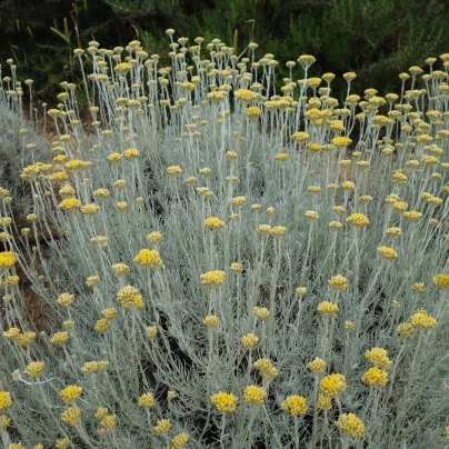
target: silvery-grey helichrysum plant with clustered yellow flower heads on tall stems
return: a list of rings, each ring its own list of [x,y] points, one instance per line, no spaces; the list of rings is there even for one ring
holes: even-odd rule
[[[3,446],[445,447],[449,54],[385,97],[348,71],[339,103],[313,56],[279,88],[255,42],[167,36],[168,67],[139,41],[76,49],[46,154],[14,129]],[[22,120],[13,61],[1,79]]]

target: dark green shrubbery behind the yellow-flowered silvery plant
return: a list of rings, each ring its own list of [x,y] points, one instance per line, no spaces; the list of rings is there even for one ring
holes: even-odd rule
[[[50,98],[61,78],[77,79],[68,54],[96,39],[102,47],[139,39],[147,51],[177,36],[219,38],[240,54],[251,41],[258,53],[275,53],[280,74],[291,54],[311,53],[317,72],[358,72],[356,90],[397,89],[397,73],[448,50],[449,6],[445,0],[0,0],[0,63],[14,58]],[[282,73],[282,70],[285,72]],[[312,73],[313,74],[313,73]],[[335,86],[341,89],[342,86]]]

